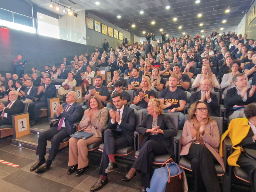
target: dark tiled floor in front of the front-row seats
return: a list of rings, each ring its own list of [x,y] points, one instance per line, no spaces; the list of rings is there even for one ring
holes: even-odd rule
[[[48,123],[41,122],[43,126]],[[38,126],[38,125],[37,125]],[[34,150],[14,146],[12,136],[0,139],[0,159],[19,165],[15,168],[0,163],[0,191],[3,192],[81,192],[90,191],[92,185],[98,180],[98,168],[100,165],[100,153],[89,152],[89,168],[85,173],[76,177],[75,174],[67,175],[68,171],[68,147],[63,148],[57,154],[51,167],[44,173],[30,172],[29,168],[37,160]],[[121,179],[132,166],[132,161],[116,159],[118,169],[108,173],[109,183],[100,191],[128,191],[140,190],[140,174],[137,174],[130,182],[122,182]],[[187,176],[189,189],[193,189],[191,175]],[[248,186],[232,185],[231,191],[250,191]]]

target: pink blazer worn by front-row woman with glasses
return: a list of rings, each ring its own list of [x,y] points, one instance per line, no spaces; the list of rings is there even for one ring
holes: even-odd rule
[[[182,148],[180,155],[188,155],[189,148],[193,144],[194,140],[192,139],[191,129],[193,127],[193,122],[186,121],[182,130]],[[223,171],[225,172],[224,161],[218,153],[218,147],[220,145],[220,133],[216,121],[209,122],[205,125],[204,136],[201,136],[204,142],[205,147],[211,151],[212,155],[217,159],[217,161],[222,166]]]

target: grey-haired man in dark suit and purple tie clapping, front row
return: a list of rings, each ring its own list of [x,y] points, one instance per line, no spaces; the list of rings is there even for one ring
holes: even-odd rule
[[[59,150],[60,142],[75,132],[73,124],[83,115],[82,106],[79,105],[76,100],[77,93],[71,91],[67,95],[67,102],[62,105],[57,105],[56,113],[54,115],[54,119],[59,119],[56,124],[57,126],[51,127],[39,134],[36,149],[36,155],[38,155],[39,158],[36,163],[30,167],[30,171],[35,170],[36,173],[42,173],[48,169]],[[52,146],[48,159],[45,161],[44,156],[47,140],[49,139],[52,139]]]

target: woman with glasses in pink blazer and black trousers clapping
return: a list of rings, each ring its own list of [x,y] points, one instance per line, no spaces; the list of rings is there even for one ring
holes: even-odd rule
[[[206,103],[196,101],[189,108],[181,143],[180,155],[191,163],[194,191],[220,192],[214,166],[219,162],[225,171],[223,159],[218,153],[220,133],[217,123],[210,118]]]

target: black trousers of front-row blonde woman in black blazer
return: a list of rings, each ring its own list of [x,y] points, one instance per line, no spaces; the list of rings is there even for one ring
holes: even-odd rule
[[[154,138],[150,136],[149,138]],[[140,170],[141,186],[150,188],[150,177],[153,170],[153,161],[155,155],[164,155],[168,153],[164,144],[156,140],[147,140],[140,148],[138,158],[135,158],[133,168]]]

